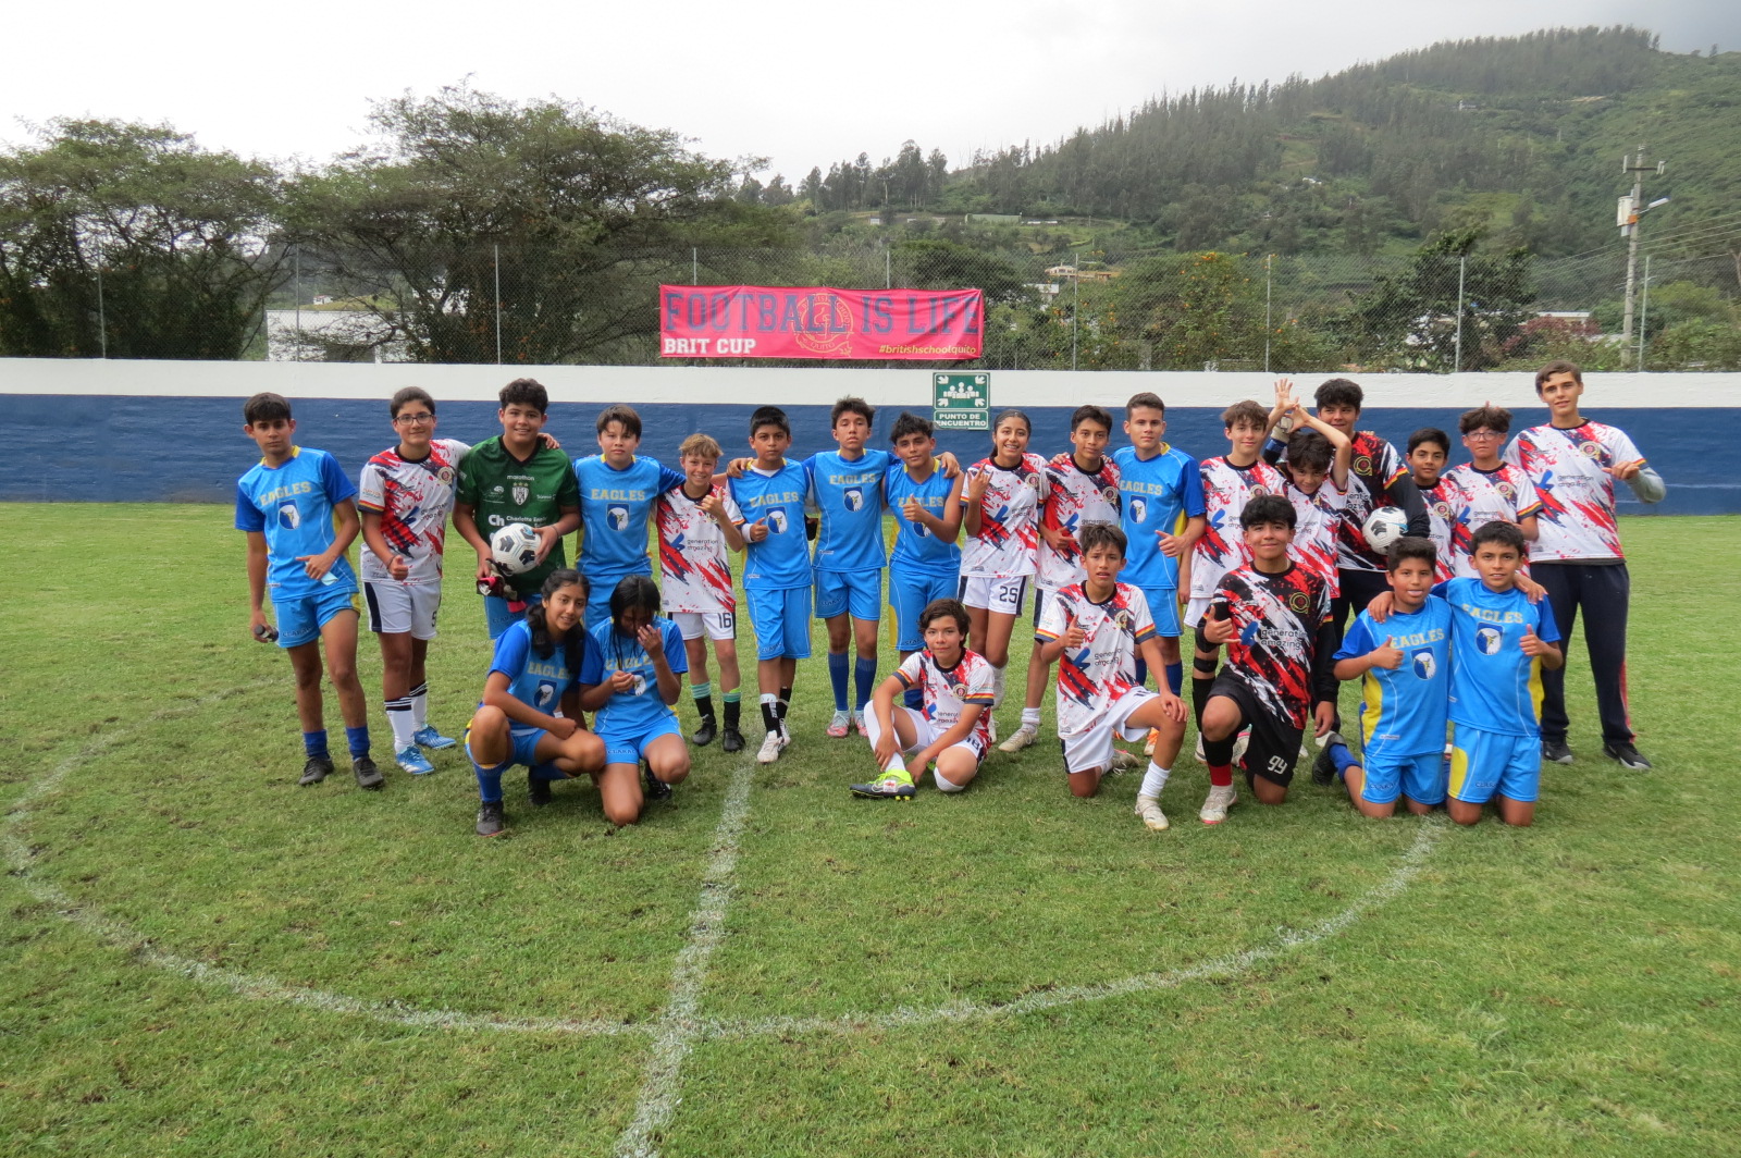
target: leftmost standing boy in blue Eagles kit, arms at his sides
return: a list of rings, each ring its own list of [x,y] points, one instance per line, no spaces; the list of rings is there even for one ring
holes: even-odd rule
[[[247,533],[249,629],[254,639],[275,639],[291,653],[308,757],[298,784],[319,784],[333,773],[320,702],[324,646],[357,787],[380,789],[385,778],[369,759],[369,707],[357,679],[357,575],[345,557],[362,528],[357,488],[331,454],[291,441],[296,420],[280,395],[251,397],[242,421],[259,448],[259,461],[235,486],[235,528]],[[268,585],[277,630],[266,622]]]

